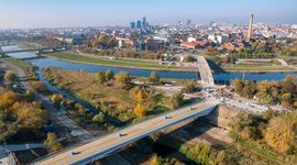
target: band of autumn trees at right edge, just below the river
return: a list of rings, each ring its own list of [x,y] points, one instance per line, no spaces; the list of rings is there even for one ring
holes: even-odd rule
[[[267,105],[282,105],[288,110],[297,110],[297,78],[287,76],[282,81],[242,81],[234,79],[232,87],[237,94],[257,99]]]

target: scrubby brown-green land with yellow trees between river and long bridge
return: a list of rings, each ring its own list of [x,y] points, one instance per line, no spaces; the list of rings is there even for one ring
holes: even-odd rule
[[[98,123],[105,122],[106,116],[129,123],[168,111],[173,102],[175,107],[183,103],[183,95],[170,98],[148,86],[132,84],[134,78],[129,73],[113,74],[107,70],[91,74],[59,68],[46,68],[43,73],[52,84],[90,102],[102,112],[92,117]],[[148,81],[158,84],[158,75],[152,73]]]

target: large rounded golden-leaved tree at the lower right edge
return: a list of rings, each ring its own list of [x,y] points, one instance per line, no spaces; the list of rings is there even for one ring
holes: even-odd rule
[[[273,118],[265,131],[264,139],[275,151],[284,153],[297,146],[297,116],[282,114]]]

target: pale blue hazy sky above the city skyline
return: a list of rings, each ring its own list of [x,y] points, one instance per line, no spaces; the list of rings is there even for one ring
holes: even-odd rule
[[[297,0],[0,0],[0,29],[151,24],[297,24]]]

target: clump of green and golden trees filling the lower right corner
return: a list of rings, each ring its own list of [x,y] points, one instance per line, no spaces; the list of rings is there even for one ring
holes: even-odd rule
[[[230,122],[238,150],[250,152],[274,164],[297,163],[296,112],[265,112],[262,117],[239,113]]]

